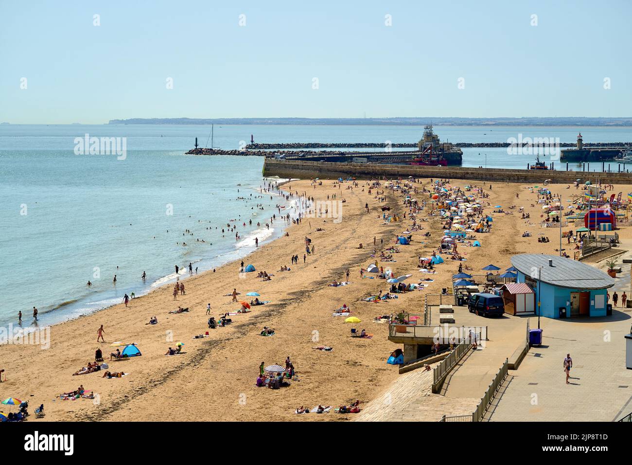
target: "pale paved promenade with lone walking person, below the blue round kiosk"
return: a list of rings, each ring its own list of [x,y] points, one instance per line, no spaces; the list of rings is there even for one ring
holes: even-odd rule
[[[518,370],[509,371],[490,420],[614,421],[630,413],[632,370],[626,370],[623,336],[632,313],[626,310],[602,318],[542,318],[542,347],[532,347]],[[568,385],[567,353],[573,358]]]

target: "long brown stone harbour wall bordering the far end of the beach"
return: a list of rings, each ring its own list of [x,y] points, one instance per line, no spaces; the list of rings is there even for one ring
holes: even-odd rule
[[[575,179],[598,180],[602,183],[632,184],[632,173],[583,172],[583,171],[536,171],[526,169],[496,169],[470,167],[408,166],[360,163],[308,162],[303,160],[265,159],[264,176],[298,179],[394,179],[394,178],[447,178],[472,179],[506,183],[542,183],[552,179],[554,183],[573,183]]]

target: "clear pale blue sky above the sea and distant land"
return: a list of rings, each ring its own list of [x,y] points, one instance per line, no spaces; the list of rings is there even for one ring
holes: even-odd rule
[[[0,0],[0,123],[629,117],[631,20],[629,0]]]

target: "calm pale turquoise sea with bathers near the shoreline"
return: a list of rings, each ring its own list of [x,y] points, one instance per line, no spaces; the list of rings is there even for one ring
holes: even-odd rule
[[[435,127],[452,142],[505,142],[519,133],[573,142],[578,131],[585,142],[632,142],[629,128]],[[86,133],[125,137],[126,158],[75,155],[75,138]],[[422,128],[216,125],[213,145],[238,148],[251,134],[255,142],[414,142]],[[0,325],[16,323],[18,310],[23,325],[33,325],[33,306],[40,325],[99,310],[173,281],[174,265],[211,269],[252,251],[255,236],[279,236],[283,223],[268,231],[265,222],[283,198],[251,200],[264,182],[262,158],[183,155],[196,136],[210,146],[209,126],[0,125]],[[487,153],[488,167],[526,167],[533,158],[509,157],[506,149],[463,152],[464,166],[485,164],[479,153]],[[252,209],[256,203],[264,210]],[[252,226],[237,228],[241,241],[222,237],[230,219],[251,218]]]

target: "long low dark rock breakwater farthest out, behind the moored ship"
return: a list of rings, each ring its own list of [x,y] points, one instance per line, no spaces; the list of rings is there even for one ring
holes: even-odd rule
[[[512,147],[514,144],[509,142],[456,142],[452,144],[459,148],[502,148]],[[517,145],[517,144],[515,144]],[[531,147],[532,144],[524,143],[523,147]],[[623,142],[587,142],[584,147],[624,147]],[[576,147],[575,142],[562,142],[560,147]],[[416,143],[391,143],[384,142],[288,142],[288,143],[250,143],[246,145],[246,150],[274,150],[274,149],[291,149],[291,148],[387,148],[387,147],[417,147]]]

